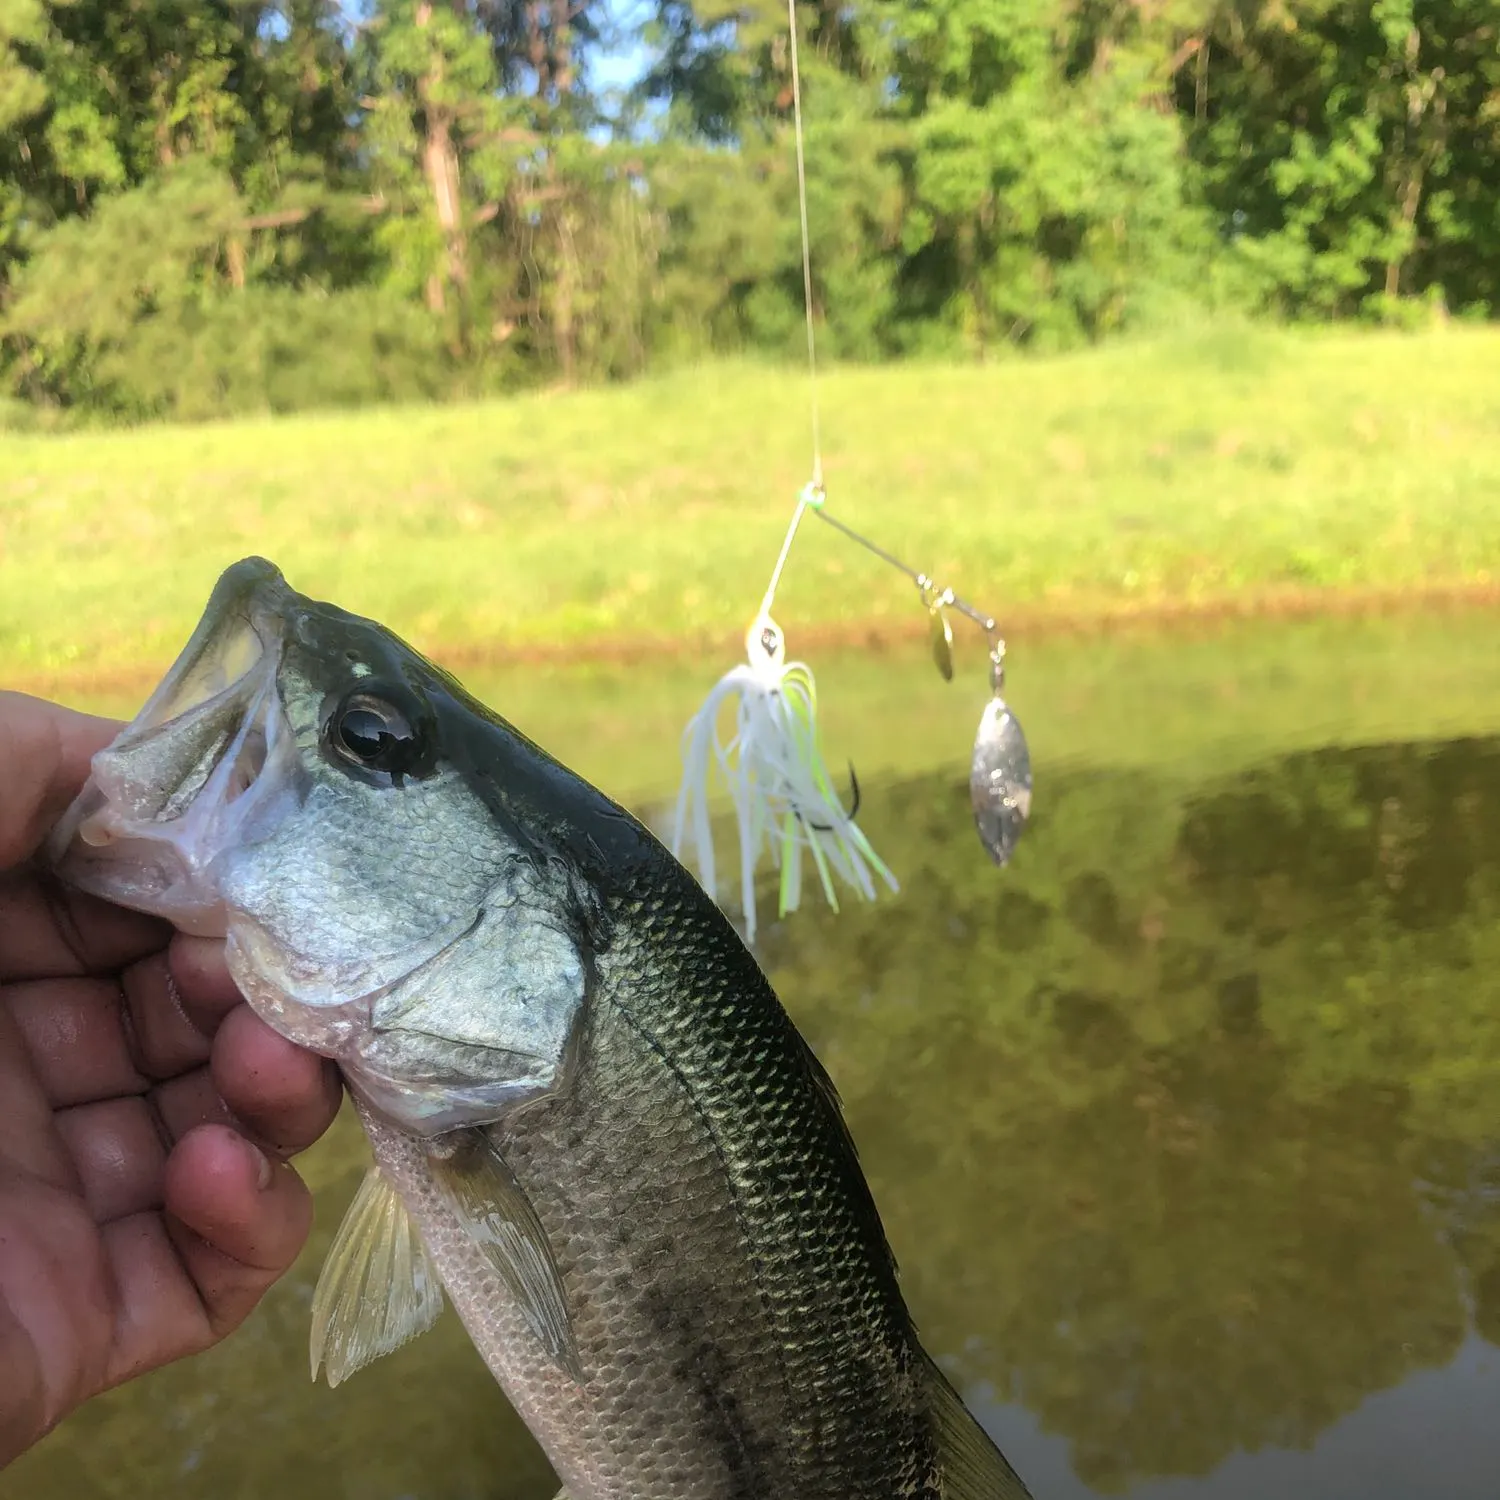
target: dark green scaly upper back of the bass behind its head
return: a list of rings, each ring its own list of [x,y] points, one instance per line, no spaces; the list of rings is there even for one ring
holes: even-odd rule
[[[696,884],[658,870],[651,885],[621,903],[602,972],[670,1058],[723,1162],[790,1398],[789,1492],[936,1497],[910,1320],[832,1094]],[[664,954],[681,981],[650,978]]]

